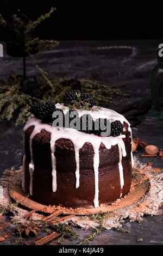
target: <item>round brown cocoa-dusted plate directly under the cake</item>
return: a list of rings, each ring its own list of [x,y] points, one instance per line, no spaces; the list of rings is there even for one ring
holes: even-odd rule
[[[140,200],[142,200],[146,194],[149,192],[151,185],[149,179],[145,174],[137,172],[133,168],[133,178],[130,188],[130,192],[124,198],[117,199],[114,203],[110,205],[100,205],[98,208],[65,208],[62,206],[55,205],[44,205],[35,202],[32,197],[27,196],[25,192],[22,191],[22,170],[13,176],[8,185],[8,192],[12,199],[18,201],[18,203],[28,209],[37,209],[37,211],[42,213],[52,214],[55,210],[60,210],[64,215],[76,214],[76,215],[90,215],[98,214],[101,212],[116,211],[127,206],[131,206]]]

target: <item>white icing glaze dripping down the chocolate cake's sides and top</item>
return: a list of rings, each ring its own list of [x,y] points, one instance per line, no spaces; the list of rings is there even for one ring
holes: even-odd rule
[[[66,113],[68,111],[68,107],[65,107],[62,104],[55,105],[57,108],[64,108],[63,111]],[[96,108],[94,106],[93,108]],[[83,114],[88,114],[90,111],[79,111],[79,117]],[[128,123],[126,118],[123,115],[120,115],[113,111],[112,109],[101,108],[99,111],[91,111],[90,113],[92,118],[95,120],[99,117],[101,118],[109,118],[112,121],[120,120],[123,124],[123,121]],[[131,133],[130,124],[128,123],[128,131]],[[92,144],[94,157],[93,157],[93,168],[95,173],[95,197],[93,199],[93,203],[95,208],[98,207],[98,167],[99,167],[99,147],[100,144],[103,143],[106,149],[110,149],[112,145],[118,145],[119,150],[119,162],[118,167],[120,170],[120,185],[121,185],[121,192],[124,185],[123,180],[123,167],[122,167],[122,156],[126,156],[126,149],[122,138],[125,138],[125,135],[120,135],[117,137],[99,137],[94,135],[93,133],[88,134],[84,132],[80,132],[78,130],[74,130],[71,128],[64,128],[64,127],[53,127],[50,124],[42,123],[41,120],[37,118],[29,119],[24,127],[24,131],[26,131],[30,126],[34,126],[34,130],[30,135],[30,156],[31,161],[29,164],[29,172],[30,172],[30,195],[33,194],[33,173],[34,173],[34,160],[33,160],[33,149],[32,149],[32,141],[34,136],[41,132],[42,129],[46,130],[47,132],[51,133],[51,159],[52,159],[52,190],[53,192],[57,191],[57,172],[56,172],[56,160],[55,160],[55,142],[60,138],[70,139],[74,145],[74,152],[75,152],[75,159],[76,159],[76,188],[79,187],[79,149],[83,147],[83,145],[88,142]],[[24,156],[24,162],[26,157]],[[24,164],[23,164],[23,176],[24,176]],[[24,178],[23,178],[23,186],[24,186]],[[122,193],[121,193],[122,196]]]

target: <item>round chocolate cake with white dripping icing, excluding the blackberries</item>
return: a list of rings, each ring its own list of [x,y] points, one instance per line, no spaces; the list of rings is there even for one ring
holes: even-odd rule
[[[66,113],[68,107],[55,105]],[[93,107],[95,108],[95,107]],[[125,196],[131,185],[131,129],[115,111],[79,111],[121,121],[119,136],[101,137],[54,127],[38,118],[24,127],[22,187],[36,201],[67,208],[97,208]]]

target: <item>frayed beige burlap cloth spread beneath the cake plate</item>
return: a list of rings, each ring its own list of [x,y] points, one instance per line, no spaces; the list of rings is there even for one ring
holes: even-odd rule
[[[151,182],[151,188],[149,192],[143,197],[139,202],[134,203],[125,208],[110,212],[109,217],[105,218],[103,221],[103,227],[106,229],[121,227],[121,223],[125,218],[129,218],[130,221],[142,221],[142,217],[146,215],[160,215],[162,211],[159,209],[163,202],[163,172],[159,169],[152,168],[148,164],[142,164],[137,161],[134,157],[134,167],[140,172],[146,175]],[[10,205],[10,209],[13,212],[12,219],[18,218],[21,223],[27,223],[28,220],[23,218],[29,210],[23,209],[20,205],[12,202],[8,193],[8,184],[11,176],[15,174],[15,170],[5,170],[2,179],[0,180],[0,185],[3,186],[3,197],[0,194],[0,206]],[[1,189],[1,187],[0,187]],[[1,192],[1,191],[0,191]],[[114,204],[114,203],[113,203]],[[43,215],[35,213],[33,215],[33,220],[41,220]],[[73,225],[79,226],[81,228],[96,228],[99,225],[98,220],[89,216],[74,216],[64,220],[61,223],[72,222]]]

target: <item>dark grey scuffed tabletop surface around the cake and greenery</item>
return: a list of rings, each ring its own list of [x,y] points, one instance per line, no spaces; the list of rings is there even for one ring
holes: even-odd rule
[[[158,40],[139,41],[65,41],[53,51],[39,52],[35,58],[49,76],[87,78],[109,84],[121,85],[123,93],[129,97],[117,96],[108,104],[118,112],[124,107],[139,105],[145,107],[151,102],[151,72],[156,65],[156,48],[162,43]],[[22,59],[4,54],[0,58],[0,77],[10,75],[10,70],[22,73]],[[27,75],[38,74],[30,58],[27,58]],[[128,113],[123,113],[126,117]],[[131,112],[130,115],[133,115]],[[133,127],[133,137],[139,136],[148,144],[163,148],[163,120],[152,117],[151,109],[139,115],[140,123]],[[4,169],[21,165],[23,153],[23,125],[15,127],[12,121],[1,121],[0,177]],[[141,162],[152,162],[153,167],[163,169],[160,157],[141,157],[143,149],[134,153]],[[122,227],[130,233],[120,233],[114,229],[102,231],[102,234],[90,241],[90,245],[162,245],[163,215],[146,216],[140,223],[126,220]],[[80,239],[84,239],[93,230],[81,230]],[[1,236],[1,233],[0,233]],[[15,236],[16,237],[16,236]],[[137,240],[142,238],[142,242]],[[14,236],[3,244],[13,244]],[[52,244],[53,242],[51,242]],[[74,245],[77,241],[65,239],[63,244]],[[2,242],[1,242],[2,244]]]

